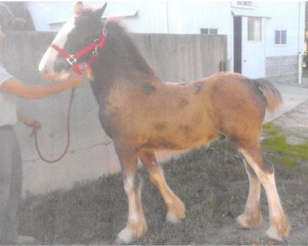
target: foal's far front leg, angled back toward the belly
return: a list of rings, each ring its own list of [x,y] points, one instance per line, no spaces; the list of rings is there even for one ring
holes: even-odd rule
[[[168,209],[167,220],[178,222],[179,219],[183,219],[185,217],[185,205],[167,185],[163,170],[157,165],[155,154],[152,152],[141,153],[139,158],[146,167],[150,180],[157,186],[164,198]]]

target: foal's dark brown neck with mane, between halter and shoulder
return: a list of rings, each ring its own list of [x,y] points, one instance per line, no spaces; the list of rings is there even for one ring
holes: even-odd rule
[[[155,72],[118,19],[107,19],[107,38],[93,65],[95,81],[109,85],[115,79],[136,81],[140,74],[155,76]]]

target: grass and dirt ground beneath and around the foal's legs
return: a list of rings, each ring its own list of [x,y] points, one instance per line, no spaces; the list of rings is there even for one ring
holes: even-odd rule
[[[307,109],[308,100],[275,119],[269,130],[264,127],[263,140],[283,135],[288,142],[283,148],[291,148],[291,145],[306,148]],[[275,146],[278,145],[276,142]],[[264,144],[262,146],[264,149]],[[237,229],[236,217],[244,211],[248,179],[238,152],[222,140],[163,165],[170,188],[186,206],[186,218],[181,223],[165,221],[162,197],[151,185],[145,170],[140,170],[148,232],[133,244],[308,245],[308,148],[300,150],[302,158],[293,158],[295,152],[285,154],[283,149],[265,149],[266,156],[275,164],[278,192],[292,226],[284,242],[265,237],[269,221],[263,189],[262,225],[253,230]],[[125,227],[126,218],[127,199],[122,177],[113,174],[92,182],[76,183],[70,191],[28,196],[22,203],[19,230],[23,235],[34,236],[41,245],[109,245]]]

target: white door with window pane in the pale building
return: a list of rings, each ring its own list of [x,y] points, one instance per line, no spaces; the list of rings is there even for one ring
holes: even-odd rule
[[[242,17],[242,74],[265,77],[265,18]]]

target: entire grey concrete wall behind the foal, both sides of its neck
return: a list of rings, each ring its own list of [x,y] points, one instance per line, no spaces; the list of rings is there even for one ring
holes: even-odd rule
[[[0,57],[16,78],[27,85],[46,85],[37,66],[55,33],[8,32]],[[164,80],[198,79],[219,71],[220,61],[227,59],[226,36],[132,34],[157,74]],[[18,122],[16,131],[24,159],[24,193],[44,193],[70,188],[74,182],[96,179],[119,171],[118,158],[98,120],[98,105],[85,78],[76,90],[71,113],[71,145],[60,162],[40,160],[34,149],[30,129]],[[21,112],[41,122],[38,134],[42,153],[54,159],[66,144],[66,117],[69,91],[40,100],[18,100]],[[163,159],[165,153],[159,153]]]

